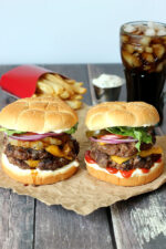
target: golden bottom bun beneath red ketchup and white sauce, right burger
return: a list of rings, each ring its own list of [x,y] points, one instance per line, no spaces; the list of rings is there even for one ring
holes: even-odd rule
[[[158,163],[157,167],[155,167],[154,170],[151,170],[149,173],[145,173],[139,176],[133,176],[129,178],[121,178],[115,176],[114,174],[107,174],[103,170],[91,167],[87,164],[86,164],[86,168],[90,175],[94,176],[95,178],[100,180],[118,185],[118,186],[134,187],[134,186],[148,184],[153,181],[154,179],[156,179],[158,176],[160,176],[160,174],[164,170],[164,163],[163,162]]]

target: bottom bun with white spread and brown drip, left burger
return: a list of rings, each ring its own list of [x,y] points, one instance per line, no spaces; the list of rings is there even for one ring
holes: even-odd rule
[[[73,164],[72,164],[73,163]],[[70,178],[77,170],[76,160],[56,170],[22,169],[17,165],[10,164],[6,154],[1,156],[3,172],[12,179],[28,185],[46,185]]]

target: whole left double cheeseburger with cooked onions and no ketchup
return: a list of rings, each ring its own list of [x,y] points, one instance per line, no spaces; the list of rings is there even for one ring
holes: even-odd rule
[[[1,166],[13,179],[32,185],[54,184],[79,167],[79,144],[72,137],[77,115],[54,97],[28,97],[0,113],[4,133]]]

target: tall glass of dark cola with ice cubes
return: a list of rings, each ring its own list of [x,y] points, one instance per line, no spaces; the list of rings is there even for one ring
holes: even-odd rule
[[[166,24],[136,21],[121,27],[121,56],[127,101],[154,105],[163,121],[166,79]]]

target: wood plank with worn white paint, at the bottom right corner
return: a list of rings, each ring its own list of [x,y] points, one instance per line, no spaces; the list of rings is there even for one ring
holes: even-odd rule
[[[101,73],[122,75],[121,66],[90,65],[91,79]],[[91,81],[91,80],[90,80]],[[124,89],[125,91],[125,89]],[[120,100],[125,100],[122,91]],[[165,113],[166,114],[166,113]],[[165,123],[163,127],[166,131]],[[156,133],[163,135],[157,127]],[[117,249],[166,248],[166,186],[111,207]]]

